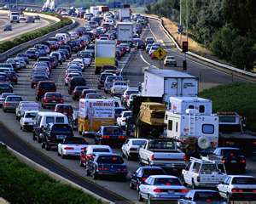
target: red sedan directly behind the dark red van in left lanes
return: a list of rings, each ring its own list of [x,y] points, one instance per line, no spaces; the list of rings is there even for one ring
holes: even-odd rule
[[[64,99],[59,92],[46,92],[42,98],[42,108],[55,107],[56,104],[63,104]]]

